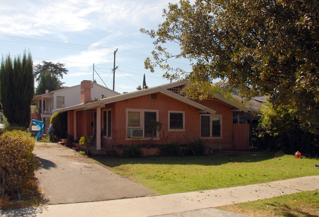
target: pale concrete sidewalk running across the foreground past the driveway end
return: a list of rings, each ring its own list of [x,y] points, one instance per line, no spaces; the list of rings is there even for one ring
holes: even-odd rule
[[[243,217],[247,215],[216,210],[211,207],[254,201],[315,189],[319,189],[319,176],[154,197],[30,207],[0,211],[0,215],[6,217]]]

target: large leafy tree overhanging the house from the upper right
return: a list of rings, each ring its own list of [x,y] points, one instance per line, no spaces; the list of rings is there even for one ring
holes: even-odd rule
[[[304,129],[319,133],[318,1],[180,1],[163,17],[157,31],[141,29],[154,38],[146,69],[189,80],[190,97],[193,90],[207,97],[213,79],[229,80],[247,97],[269,94],[274,105],[290,106]],[[170,53],[167,42],[180,53]],[[189,59],[192,71],[170,66],[170,58]]]

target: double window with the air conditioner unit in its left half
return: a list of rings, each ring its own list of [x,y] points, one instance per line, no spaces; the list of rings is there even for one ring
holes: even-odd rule
[[[126,115],[128,137],[152,137],[150,121],[158,121],[157,110],[127,109]],[[154,137],[157,137],[157,131],[154,132]]]

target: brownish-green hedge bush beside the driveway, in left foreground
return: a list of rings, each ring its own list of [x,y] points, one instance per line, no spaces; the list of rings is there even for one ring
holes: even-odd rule
[[[35,139],[21,130],[7,131],[0,136],[0,189],[1,198],[18,198],[18,192],[28,187],[34,178],[36,164],[32,151]],[[4,184],[3,184],[4,183]],[[2,194],[4,192],[4,194]],[[23,195],[22,195],[23,196]]]

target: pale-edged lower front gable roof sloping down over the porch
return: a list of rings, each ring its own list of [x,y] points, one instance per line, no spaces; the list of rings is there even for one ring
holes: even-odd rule
[[[137,90],[137,91],[130,92],[130,93],[124,93],[124,94],[116,95],[113,97],[103,98],[103,99],[100,99],[99,101],[95,101],[95,102],[91,102],[91,103],[87,103],[87,104],[74,105],[74,106],[70,106],[70,107],[67,107],[64,109],[54,110],[53,112],[70,111],[70,110],[74,110],[74,109],[81,110],[84,108],[95,108],[95,107],[99,107],[99,106],[104,107],[105,104],[114,103],[114,102],[122,101],[125,99],[130,99],[130,98],[135,98],[135,97],[139,97],[139,96],[144,96],[144,95],[148,95],[148,94],[152,94],[152,93],[164,94],[168,97],[174,98],[182,103],[185,103],[187,105],[195,107],[199,110],[204,110],[210,114],[216,113],[215,110],[212,110],[212,109],[210,109],[204,105],[201,105],[199,103],[196,103],[190,99],[184,98],[176,93],[173,93],[173,92],[163,88],[162,86],[152,87],[152,88],[143,89],[143,90]]]

